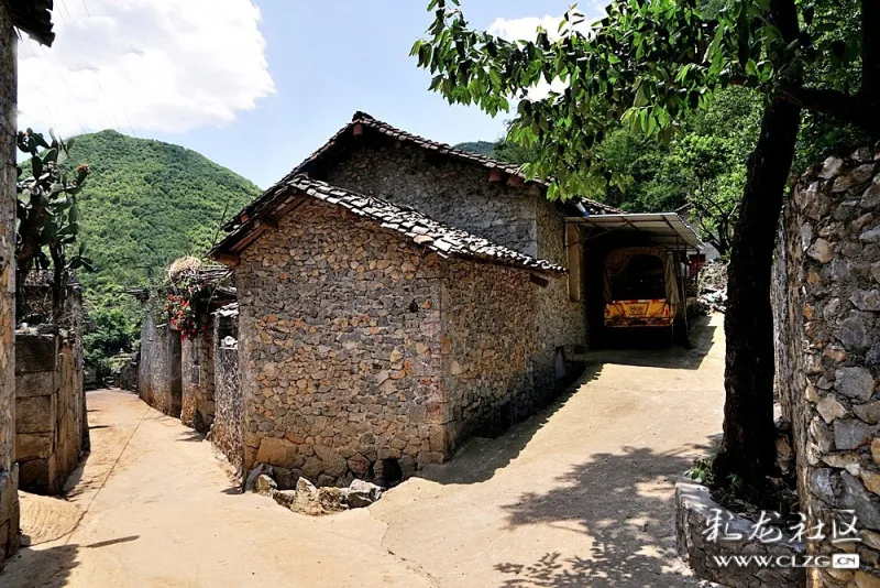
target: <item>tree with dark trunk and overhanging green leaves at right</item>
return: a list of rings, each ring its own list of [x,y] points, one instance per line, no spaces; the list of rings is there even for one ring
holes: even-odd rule
[[[539,30],[524,42],[469,28],[458,6],[430,1],[435,21],[413,54],[451,102],[496,115],[519,98],[508,138],[539,148],[524,170],[552,179],[551,198],[620,184],[597,149],[620,122],[669,142],[718,90],[739,85],[762,95],[728,268],[724,440],[714,462],[717,480],[736,475],[760,501],[776,469],[770,266],[801,112],[880,137],[871,116],[880,102],[880,2],[615,0],[587,34],[571,9],[552,36]],[[541,80],[564,89],[528,99]]]

